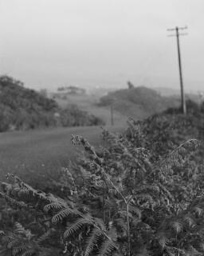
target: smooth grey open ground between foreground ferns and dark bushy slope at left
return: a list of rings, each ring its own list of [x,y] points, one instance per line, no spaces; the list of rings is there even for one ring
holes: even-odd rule
[[[108,127],[120,131],[121,126]],[[83,135],[94,146],[101,143],[99,126],[29,130],[0,134],[0,178],[18,174],[26,182],[36,184],[54,177],[62,166],[76,158],[80,146],[70,142],[72,134]],[[37,184],[38,185],[38,184]]]

